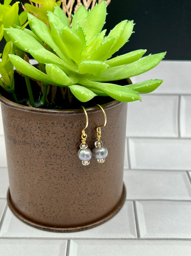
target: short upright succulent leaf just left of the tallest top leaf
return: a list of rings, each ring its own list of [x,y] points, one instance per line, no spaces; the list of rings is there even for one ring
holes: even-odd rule
[[[77,9],[75,14],[73,15],[73,18],[72,18],[72,29],[76,30],[77,24],[79,24],[79,26],[81,26],[82,29],[84,30],[85,29],[85,25],[86,25],[87,15],[88,15],[88,11],[86,10],[86,8],[83,5],[81,5]]]

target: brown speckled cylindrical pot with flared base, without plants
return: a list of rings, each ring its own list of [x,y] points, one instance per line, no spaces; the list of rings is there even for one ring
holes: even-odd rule
[[[75,232],[113,217],[125,200],[123,185],[126,103],[102,105],[108,122],[101,140],[105,163],[83,166],[77,153],[86,124],[82,109],[54,111],[0,96],[10,188],[8,205],[25,223],[54,232]],[[88,108],[87,144],[94,148],[99,107]]]

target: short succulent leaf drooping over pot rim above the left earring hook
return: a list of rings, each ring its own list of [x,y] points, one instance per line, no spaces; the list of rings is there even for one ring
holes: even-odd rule
[[[87,102],[96,96],[91,90],[81,85],[70,85],[68,87],[72,94],[81,102]]]

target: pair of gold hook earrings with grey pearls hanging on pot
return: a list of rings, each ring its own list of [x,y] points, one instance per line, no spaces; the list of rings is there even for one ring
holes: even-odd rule
[[[91,150],[88,148],[88,145],[86,143],[87,139],[87,134],[85,133],[85,129],[88,126],[88,116],[86,109],[82,106],[83,111],[85,112],[86,115],[86,126],[85,128],[82,129],[82,135],[81,135],[81,144],[80,144],[80,150],[78,151],[78,157],[82,161],[82,165],[89,165],[90,164],[90,159],[92,155],[97,159],[98,163],[104,163],[106,156],[108,156],[108,149],[103,146],[101,139],[101,128],[106,126],[107,123],[107,117],[104,109],[100,106],[97,105],[98,107],[101,108],[101,110],[104,113],[104,118],[105,118],[105,123],[104,125],[97,126],[96,131],[97,131],[97,140],[95,142],[95,147]]]

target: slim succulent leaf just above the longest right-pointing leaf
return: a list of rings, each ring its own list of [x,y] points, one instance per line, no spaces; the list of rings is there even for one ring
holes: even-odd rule
[[[140,59],[143,56],[143,54],[145,54],[146,51],[147,50],[142,50],[142,49],[131,51],[130,53],[126,53],[126,54],[117,56],[115,58],[106,60],[105,63],[108,64],[110,67],[129,64]]]

